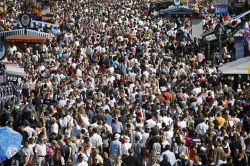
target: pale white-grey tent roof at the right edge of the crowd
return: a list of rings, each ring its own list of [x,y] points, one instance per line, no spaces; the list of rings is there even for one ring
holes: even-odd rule
[[[250,57],[223,64],[219,71],[222,74],[250,74]]]

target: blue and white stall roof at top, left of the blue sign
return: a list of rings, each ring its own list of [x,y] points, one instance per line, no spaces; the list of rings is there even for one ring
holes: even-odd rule
[[[192,14],[193,10],[186,6],[169,6],[169,8],[161,11],[164,15],[175,15],[175,14]]]

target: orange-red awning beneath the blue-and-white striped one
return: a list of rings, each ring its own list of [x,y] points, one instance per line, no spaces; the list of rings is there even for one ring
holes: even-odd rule
[[[46,38],[33,35],[13,35],[6,37],[6,41],[23,43],[45,43]]]

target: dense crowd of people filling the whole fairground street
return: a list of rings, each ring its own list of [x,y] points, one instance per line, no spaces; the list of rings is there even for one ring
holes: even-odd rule
[[[16,12],[2,30],[12,28],[22,6],[5,2]],[[53,10],[59,35],[9,45],[7,60],[27,75],[4,106],[2,125],[23,135],[7,162],[249,165],[250,107],[237,91],[249,83],[218,72],[231,60],[230,45],[211,61],[206,42],[191,38],[189,17],[156,17],[144,0],[63,0]]]

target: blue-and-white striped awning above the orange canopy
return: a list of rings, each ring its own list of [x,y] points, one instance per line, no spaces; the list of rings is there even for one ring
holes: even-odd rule
[[[7,37],[7,36],[13,36],[13,35],[24,35],[25,30],[24,29],[16,29],[11,31],[3,31],[0,32],[0,37]],[[33,35],[33,36],[40,36],[44,38],[50,38],[51,34],[45,33],[45,32],[39,32],[35,30],[27,29],[27,35]]]

